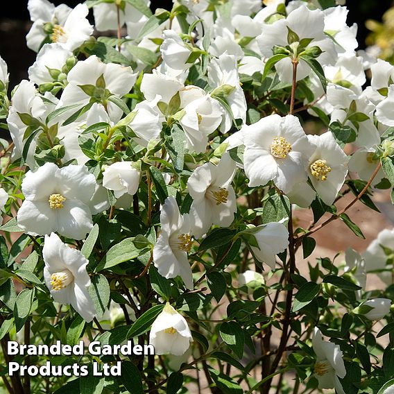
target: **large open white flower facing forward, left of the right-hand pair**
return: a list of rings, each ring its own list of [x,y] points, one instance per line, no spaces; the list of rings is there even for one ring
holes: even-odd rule
[[[287,193],[307,180],[305,162],[312,148],[297,117],[273,114],[243,126],[241,132],[245,144],[243,165],[250,187],[273,180]]]

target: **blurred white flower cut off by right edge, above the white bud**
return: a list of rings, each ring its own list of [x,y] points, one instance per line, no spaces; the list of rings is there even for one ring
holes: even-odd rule
[[[388,252],[388,255],[386,252]],[[366,271],[377,271],[377,275],[387,285],[393,283],[393,266],[392,264],[387,264],[390,254],[394,254],[394,229],[388,230],[387,228],[379,232],[377,238],[363,252]]]

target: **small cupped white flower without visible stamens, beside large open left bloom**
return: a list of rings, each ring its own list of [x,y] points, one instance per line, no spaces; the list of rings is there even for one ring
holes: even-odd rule
[[[141,171],[135,169],[133,162],[116,162],[106,167],[103,172],[103,187],[114,191],[119,198],[123,194],[130,196],[137,193]]]

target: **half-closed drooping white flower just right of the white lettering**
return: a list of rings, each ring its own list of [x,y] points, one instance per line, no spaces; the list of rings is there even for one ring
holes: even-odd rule
[[[169,303],[157,316],[149,334],[149,344],[155,348],[155,354],[184,354],[193,341],[185,318]]]

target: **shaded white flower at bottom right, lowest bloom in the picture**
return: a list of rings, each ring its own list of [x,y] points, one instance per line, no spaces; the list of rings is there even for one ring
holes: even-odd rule
[[[339,345],[323,341],[320,329],[314,328],[312,346],[317,356],[314,372],[318,379],[319,388],[335,388],[336,393],[346,394],[343,391],[339,377],[343,379],[346,375],[343,354]]]

